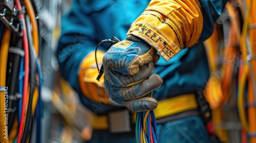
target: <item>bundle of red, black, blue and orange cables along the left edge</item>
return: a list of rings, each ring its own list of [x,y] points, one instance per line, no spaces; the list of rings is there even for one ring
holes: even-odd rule
[[[42,75],[38,59],[39,33],[35,5],[31,1],[0,3],[1,49],[0,142],[28,142],[36,126],[36,142],[40,142]],[[3,25],[5,24],[5,27]],[[4,32],[3,32],[4,29]],[[4,90],[8,88],[8,91]],[[4,100],[7,94],[7,99]],[[8,103],[8,106],[4,106]],[[7,122],[4,122],[7,121]],[[33,125],[33,123],[36,123]],[[2,129],[8,128],[8,131]],[[4,133],[8,135],[2,136]]]

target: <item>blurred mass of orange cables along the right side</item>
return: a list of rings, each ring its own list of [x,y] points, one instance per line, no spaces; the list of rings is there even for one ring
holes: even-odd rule
[[[205,42],[211,78],[216,79],[214,84],[209,80],[205,95],[222,142],[256,142],[255,2],[227,2]]]

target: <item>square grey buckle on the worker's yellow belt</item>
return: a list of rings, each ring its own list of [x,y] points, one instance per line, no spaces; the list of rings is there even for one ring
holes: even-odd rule
[[[108,117],[111,133],[126,133],[132,131],[131,114],[128,109],[110,112]]]

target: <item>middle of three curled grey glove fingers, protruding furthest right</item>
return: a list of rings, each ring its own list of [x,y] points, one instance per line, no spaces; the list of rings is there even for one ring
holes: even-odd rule
[[[163,80],[154,74],[143,82],[130,86],[121,88],[120,98],[122,100],[132,100],[145,96],[147,93],[159,88],[163,83]]]

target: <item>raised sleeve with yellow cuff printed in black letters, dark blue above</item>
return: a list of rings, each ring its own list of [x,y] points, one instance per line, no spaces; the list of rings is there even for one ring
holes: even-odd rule
[[[184,47],[208,38],[227,0],[152,0],[133,22],[133,34],[168,61]]]

